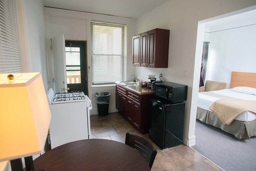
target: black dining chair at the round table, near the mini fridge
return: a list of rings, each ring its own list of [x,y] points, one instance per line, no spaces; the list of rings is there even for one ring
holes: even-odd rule
[[[150,144],[150,142],[140,136],[127,132],[125,136],[125,144],[139,152],[146,159],[150,169],[152,168],[157,150]]]

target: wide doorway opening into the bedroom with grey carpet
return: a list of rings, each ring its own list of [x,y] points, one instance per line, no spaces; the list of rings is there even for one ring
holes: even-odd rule
[[[193,106],[197,111],[192,116],[195,119],[196,144],[191,148],[224,170],[254,170],[256,167],[256,132],[250,129],[256,125],[256,113],[245,111],[231,122],[226,122],[221,117],[223,115],[213,112],[216,108],[212,105],[222,105],[216,102],[220,99],[225,102],[256,100],[253,94],[233,89],[242,87],[256,91],[255,8],[249,7],[198,24],[193,85],[197,86],[193,91],[194,97],[198,94],[198,98],[197,106]],[[204,58],[207,54],[204,53],[203,42],[210,42],[208,58]],[[201,81],[204,86],[199,86]],[[199,93],[196,92],[198,88]],[[231,109],[224,104],[222,107],[226,109],[225,116],[231,115]]]

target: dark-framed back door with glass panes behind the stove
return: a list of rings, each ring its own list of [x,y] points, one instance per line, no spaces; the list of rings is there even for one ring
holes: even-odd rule
[[[65,41],[68,92],[82,91],[88,95],[86,41]]]

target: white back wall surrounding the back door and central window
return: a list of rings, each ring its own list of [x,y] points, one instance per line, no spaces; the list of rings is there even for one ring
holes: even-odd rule
[[[47,49],[48,49],[48,63],[49,63],[49,77],[52,80],[52,59],[51,59],[51,38],[60,34],[65,34],[66,40],[86,40],[87,41],[87,72],[88,72],[88,97],[92,100],[92,111],[90,114],[98,114],[97,104],[95,99],[95,92],[110,92],[109,112],[116,112],[115,109],[115,84],[107,86],[93,86],[91,73],[91,20],[126,24],[127,37],[130,37],[131,18],[116,17],[102,14],[93,14],[86,12],[78,12],[65,9],[56,9],[45,7],[46,18],[46,35],[47,35]],[[127,38],[127,62],[131,63],[129,58],[131,39]],[[90,69],[88,68],[90,66]],[[127,65],[127,77],[130,76],[132,67]],[[50,81],[50,87],[53,87],[53,82]]]

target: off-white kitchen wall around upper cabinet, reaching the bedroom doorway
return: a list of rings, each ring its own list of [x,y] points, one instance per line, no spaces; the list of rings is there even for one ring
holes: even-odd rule
[[[168,1],[135,21],[135,32],[132,35],[144,33],[154,28],[170,30],[168,68],[135,67],[135,77],[147,80],[147,74],[164,72],[164,81],[188,85],[186,101],[184,143],[195,144],[196,104],[200,77],[200,54],[196,54],[197,30],[200,20],[226,14],[235,10],[255,5],[256,1]],[[204,24],[200,25],[204,30]],[[203,41],[204,35],[200,35]],[[197,53],[202,54],[203,42],[199,42]],[[195,54],[197,60],[195,62]],[[198,57],[199,56],[199,57]],[[196,65],[196,68],[194,66]],[[198,69],[197,69],[198,68]],[[187,77],[183,70],[187,69]],[[195,77],[194,77],[195,71]],[[193,84],[194,81],[194,84]],[[193,88],[193,89],[192,89]],[[193,91],[192,91],[193,90]],[[192,96],[193,94],[193,96]],[[193,104],[191,106],[191,104]],[[190,142],[189,142],[190,141]]]

